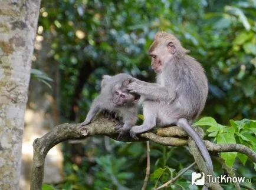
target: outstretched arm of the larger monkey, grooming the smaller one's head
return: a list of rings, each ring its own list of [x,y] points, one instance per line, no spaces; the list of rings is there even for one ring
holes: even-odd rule
[[[143,86],[132,82],[128,85],[127,89],[131,93],[142,95],[147,99],[162,100],[168,103],[172,102],[176,97],[175,91],[168,90],[168,88],[159,84],[155,86]]]

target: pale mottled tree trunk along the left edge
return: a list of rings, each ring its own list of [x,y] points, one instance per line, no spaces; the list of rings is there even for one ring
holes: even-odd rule
[[[0,2],[0,189],[19,189],[21,142],[40,0]]]

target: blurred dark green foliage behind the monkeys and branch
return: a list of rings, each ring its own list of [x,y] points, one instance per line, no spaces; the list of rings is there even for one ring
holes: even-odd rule
[[[167,31],[205,68],[209,96],[202,115],[227,125],[229,119],[256,118],[255,18],[254,0],[44,0],[37,41],[48,43],[47,60],[59,68],[62,121],[83,121],[104,74],[127,72],[154,81],[147,49],[157,31]],[[34,61],[40,46],[36,49]],[[33,70],[33,75],[40,72]],[[47,76],[40,80],[45,78],[47,85],[51,83]],[[166,182],[193,162],[186,147],[151,146],[151,173],[155,172],[149,188]],[[65,181],[55,185],[57,189],[142,186],[145,143],[91,138],[86,146],[65,144],[63,149]],[[215,165],[221,174],[221,166]],[[254,176],[255,181],[252,162],[242,166],[236,161],[234,166],[239,168],[238,176]],[[196,189],[189,186],[190,174],[186,172],[170,189]]]

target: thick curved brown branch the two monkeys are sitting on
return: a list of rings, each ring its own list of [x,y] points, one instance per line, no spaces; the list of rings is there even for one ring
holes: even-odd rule
[[[32,176],[31,176],[31,190],[41,189],[42,179],[44,176],[44,159],[48,151],[60,142],[67,141],[70,139],[83,139],[89,136],[109,136],[112,139],[117,139],[118,132],[114,128],[114,123],[99,116],[91,124],[78,128],[79,124],[61,124],[57,125],[50,132],[37,138],[34,141],[34,158],[32,166]],[[166,131],[167,130],[167,131]],[[166,132],[166,133],[165,133]],[[181,137],[176,138],[174,136]],[[156,135],[165,134],[165,137]],[[188,144],[188,139],[185,139],[185,134],[181,128],[169,127],[165,129],[156,129],[156,134],[153,132],[146,132],[141,134],[139,138],[133,139],[130,136],[123,136],[122,139],[118,141],[154,141],[161,145],[167,146],[183,146]],[[168,134],[168,135],[166,135]],[[247,146],[239,144],[225,144],[217,145],[210,141],[204,141],[206,148],[209,151],[214,152],[240,152],[247,155],[252,161],[256,162],[256,154],[251,151]],[[192,154],[193,154],[193,150]],[[200,155],[200,154],[199,154]],[[195,158],[197,159],[197,158]],[[197,163],[198,164],[198,163]],[[201,169],[199,167],[199,169]],[[202,170],[201,170],[202,171]]]

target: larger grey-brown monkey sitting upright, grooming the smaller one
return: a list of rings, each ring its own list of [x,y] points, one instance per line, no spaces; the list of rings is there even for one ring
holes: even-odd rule
[[[151,66],[156,72],[156,84],[139,81],[128,85],[132,93],[142,96],[145,121],[133,126],[130,135],[149,131],[153,127],[176,124],[196,142],[206,165],[213,168],[204,142],[191,124],[204,109],[208,95],[207,78],[201,64],[186,53],[175,36],[158,32],[150,46]]]

